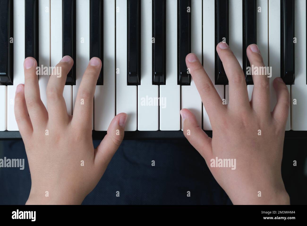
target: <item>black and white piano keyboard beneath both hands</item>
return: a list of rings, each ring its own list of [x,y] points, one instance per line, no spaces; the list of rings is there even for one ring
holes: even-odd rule
[[[307,130],[305,0],[0,0],[0,14],[2,139],[20,138],[14,96],[16,86],[24,83],[25,57],[52,67],[64,55],[74,60],[63,92],[68,114],[73,114],[89,59],[103,62],[95,90],[93,138],[101,139],[121,112],[129,115],[126,138],[184,137],[182,108],[190,109],[210,134],[185,56],[193,52],[202,60],[228,103],[228,80],[216,53],[221,41],[244,69],[251,66],[247,46],[258,45],[265,65],[272,68],[271,110],[276,104],[273,80],[282,77],[291,93],[286,130]],[[49,76],[38,77],[47,107]],[[246,82],[251,98],[248,74]]]

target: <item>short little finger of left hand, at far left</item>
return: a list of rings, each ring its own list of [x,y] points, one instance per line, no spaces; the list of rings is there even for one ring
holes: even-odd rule
[[[25,139],[32,134],[33,127],[25,103],[25,87],[23,84],[19,84],[16,87],[14,113],[21,137]]]

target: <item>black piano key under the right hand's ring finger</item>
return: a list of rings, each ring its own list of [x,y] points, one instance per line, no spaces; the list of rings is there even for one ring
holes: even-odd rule
[[[256,0],[243,0],[243,71],[247,85],[254,85],[252,75],[246,74],[247,67],[251,66],[246,49],[257,42],[256,10]]]

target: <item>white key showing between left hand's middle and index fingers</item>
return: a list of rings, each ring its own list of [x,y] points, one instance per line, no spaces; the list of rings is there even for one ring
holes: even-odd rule
[[[76,1],[76,85],[72,86],[72,113],[75,104],[81,104],[76,100],[78,89],[85,69],[90,59],[90,0]],[[92,128],[93,128],[92,118]]]

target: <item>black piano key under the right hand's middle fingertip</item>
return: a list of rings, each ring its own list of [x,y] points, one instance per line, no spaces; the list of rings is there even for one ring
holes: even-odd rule
[[[222,41],[229,44],[228,0],[215,0],[215,37],[215,46]],[[215,52],[215,84],[228,84],[222,61],[217,52]]]

